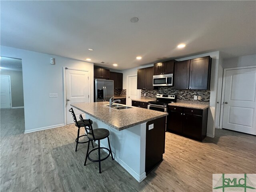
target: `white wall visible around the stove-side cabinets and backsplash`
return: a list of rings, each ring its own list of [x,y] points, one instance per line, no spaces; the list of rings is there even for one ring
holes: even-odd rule
[[[206,54],[200,54],[196,56],[191,56],[191,57],[186,57],[186,58],[179,58],[175,59],[177,61],[183,61],[183,60],[188,60],[188,59],[194,59],[194,58],[199,58],[199,57],[204,57],[204,56],[210,56],[212,58],[212,71],[211,71],[211,83],[210,83],[210,108],[208,110],[208,123],[207,123],[207,136],[214,137],[215,134],[215,119],[216,119],[216,114],[215,114],[215,108],[216,108],[216,100],[217,100],[217,94],[218,94],[218,77],[219,77],[219,59],[220,59],[220,52],[210,52]],[[147,66],[140,66],[138,68],[145,68],[145,67],[150,67],[153,66],[154,64],[150,64]],[[127,76],[128,75],[133,75],[137,74],[137,69],[138,68],[132,68],[132,69],[127,69],[123,70],[123,88],[127,88]],[[137,85],[135,85],[137,86]],[[218,122],[217,122],[218,123]]]

